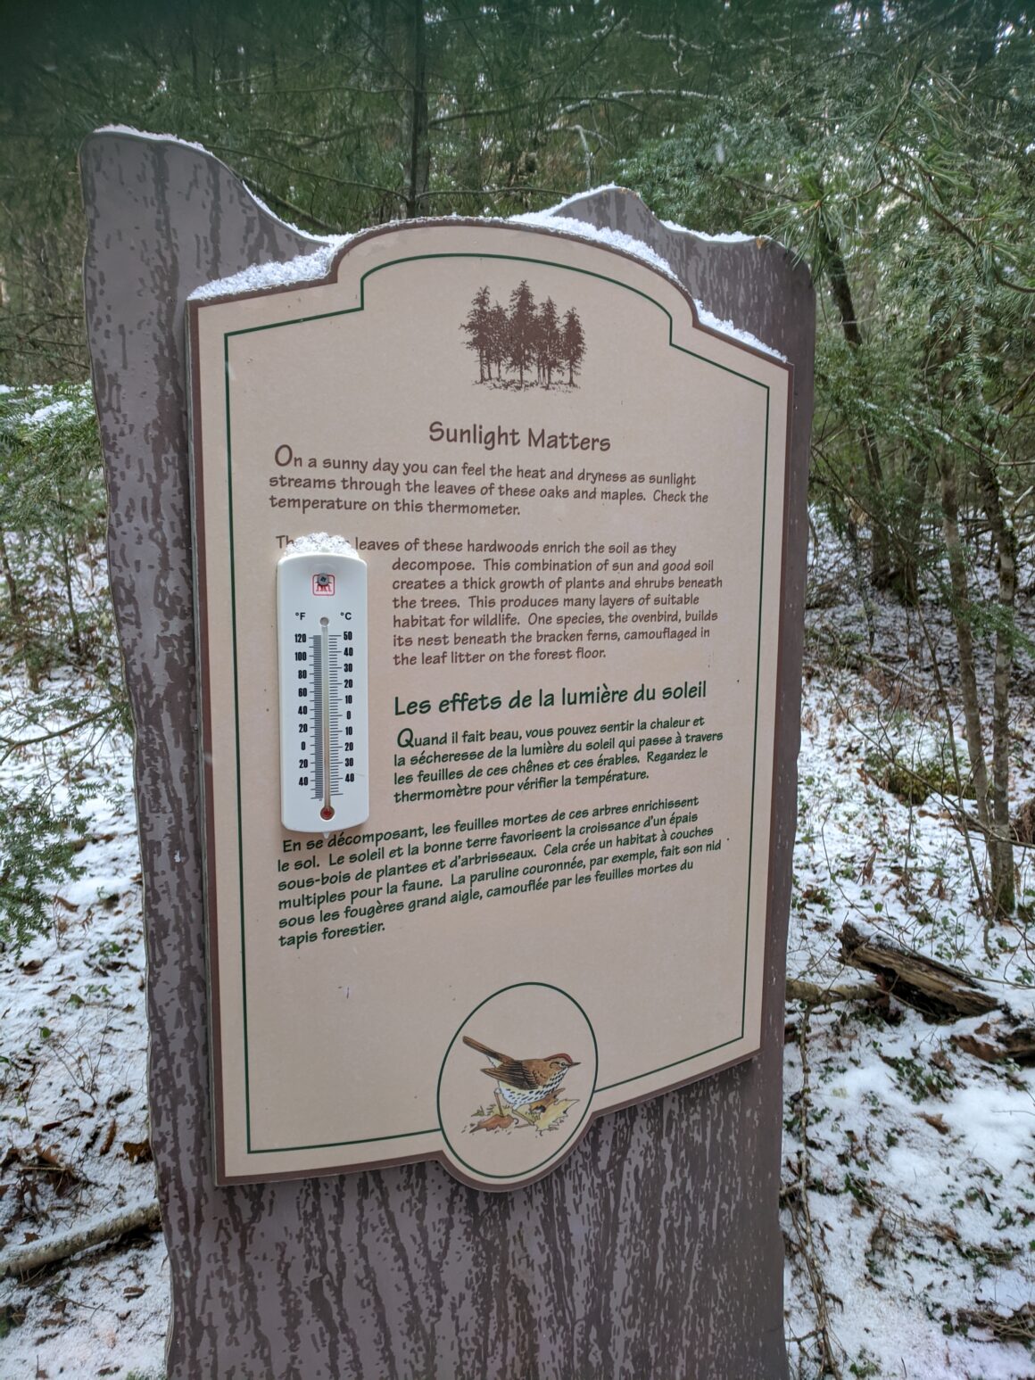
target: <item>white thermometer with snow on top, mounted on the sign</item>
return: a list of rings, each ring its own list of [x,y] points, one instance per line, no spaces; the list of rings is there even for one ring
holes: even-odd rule
[[[280,820],[326,834],[370,814],[367,563],[344,538],[277,562]]]

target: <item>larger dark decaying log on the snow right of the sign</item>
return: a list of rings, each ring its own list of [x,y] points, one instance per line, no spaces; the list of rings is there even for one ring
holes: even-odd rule
[[[874,973],[889,996],[940,1021],[994,1012],[999,999],[969,973],[903,948],[882,934],[864,934],[851,922],[838,931],[842,962]]]

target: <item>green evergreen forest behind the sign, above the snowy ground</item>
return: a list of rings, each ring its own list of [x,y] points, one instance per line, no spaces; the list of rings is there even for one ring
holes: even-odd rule
[[[112,121],[204,144],[317,233],[506,215],[618,179],[661,217],[756,230],[802,254],[820,287],[816,501],[853,546],[862,533],[864,596],[915,603],[925,581],[944,584],[965,708],[954,770],[973,774],[991,840],[983,897],[1013,911],[1009,694],[1035,297],[1034,40],[1021,4],[8,8],[8,384],[86,378],[75,156]],[[976,603],[978,531],[998,586]],[[17,606],[10,562],[4,574]],[[995,639],[991,744],[976,635]]]

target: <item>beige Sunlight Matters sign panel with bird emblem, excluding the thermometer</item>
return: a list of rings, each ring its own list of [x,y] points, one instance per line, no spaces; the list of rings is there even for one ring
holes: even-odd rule
[[[759,1047],[789,368],[466,222],[192,304],[219,1181],[508,1188]],[[368,818],[280,824],[287,542],[367,563]]]

